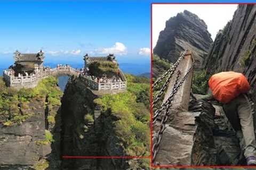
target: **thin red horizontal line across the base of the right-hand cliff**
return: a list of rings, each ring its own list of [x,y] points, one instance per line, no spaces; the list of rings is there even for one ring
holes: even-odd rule
[[[62,156],[63,159],[99,159],[99,158],[114,158],[114,159],[148,159],[151,156]]]

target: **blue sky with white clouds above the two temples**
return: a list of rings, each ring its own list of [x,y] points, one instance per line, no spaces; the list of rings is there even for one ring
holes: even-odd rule
[[[1,1],[0,21],[1,61],[16,49],[43,49],[46,62],[114,53],[121,63],[149,65],[148,1]]]

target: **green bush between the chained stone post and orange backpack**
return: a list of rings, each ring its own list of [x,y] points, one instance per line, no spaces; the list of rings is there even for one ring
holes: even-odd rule
[[[192,92],[194,94],[203,94],[207,93],[207,89],[209,88],[208,81],[210,79],[210,75],[206,74],[206,71],[194,71],[193,75],[193,83],[192,83]]]

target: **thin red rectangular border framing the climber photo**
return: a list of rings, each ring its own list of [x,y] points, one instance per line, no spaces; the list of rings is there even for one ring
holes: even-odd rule
[[[158,4],[158,5],[164,5],[164,4],[191,4],[191,5],[195,5],[195,4],[256,4],[256,3],[151,3],[151,41],[150,41],[150,46],[151,46],[151,88],[150,88],[150,92],[151,92],[151,99],[150,99],[150,110],[151,110],[151,122],[150,122],[150,166],[152,168],[256,168],[256,166],[190,166],[190,165],[185,165],[185,166],[180,166],[180,165],[154,165],[153,164],[153,155],[152,155],[152,146],[153,146],[153,141],[152,141],[152,137],[153,137],[153,107],[152,107],[152,101],[153,101],[153,89],[152,89],[152,84],[153,84],[153,46],[152,46],[152,35],[153,35],[153,31],[152,31],[152,25],[153,25],[153,21],[152,21],[152,15],[153,15],[153,5],[154,4]]]

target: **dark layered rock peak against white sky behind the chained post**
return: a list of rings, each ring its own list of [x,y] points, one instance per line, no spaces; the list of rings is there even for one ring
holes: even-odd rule
[[[189,48],[193,51],[196,67],[200,67],[212,43],[205,22],[197,15],[184,11],[166,21],[154,48],[154,54],[174,63],[180,52]]]

